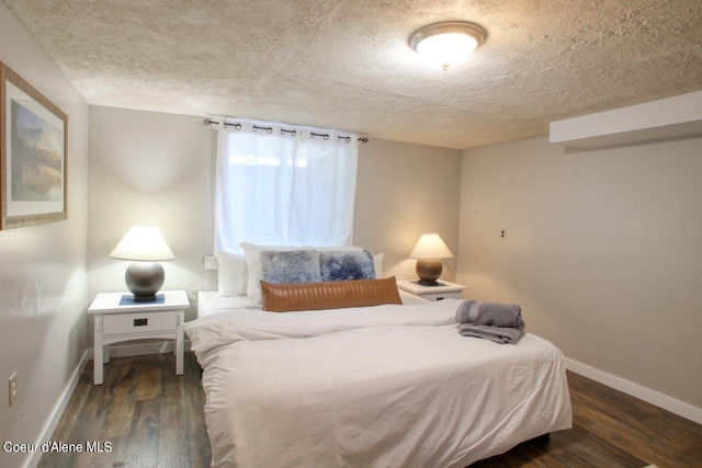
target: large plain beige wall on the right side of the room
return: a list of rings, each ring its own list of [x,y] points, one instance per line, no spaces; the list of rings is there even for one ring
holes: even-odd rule
[[[701,181],[699,138],[467,150],[458,281],[567,357],[702,408]]]

